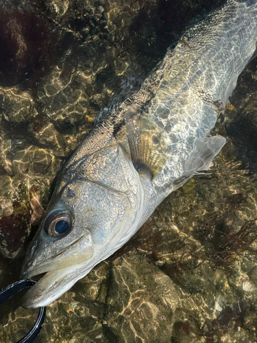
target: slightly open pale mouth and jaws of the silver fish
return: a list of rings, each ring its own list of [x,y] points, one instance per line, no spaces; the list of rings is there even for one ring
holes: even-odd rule
[[[91,235],[83,235],[60,250],[50,246],[49,251],[42,248],[46,248],[44,244],[34,249],[32,244],[32,252],[26,257],[21,272],[23,278],[45,273],[23,297],[23,307],[27,309],[47,306],[69,290],[94,253]]]

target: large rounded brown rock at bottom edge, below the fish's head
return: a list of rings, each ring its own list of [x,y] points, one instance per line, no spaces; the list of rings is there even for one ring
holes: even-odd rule
[[[116,259],[110,274],[109,310],[103,320],[117,342],[169,341],[178,305],[169,276],[136,253]]]

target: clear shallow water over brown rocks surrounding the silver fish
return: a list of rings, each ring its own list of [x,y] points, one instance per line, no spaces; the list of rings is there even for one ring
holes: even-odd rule
[[[0,1],[0,287],[19,279],[51,182],[99,110],[221,3]],[[36,342],[256,342],[256,75],[253,60],[214,129],[228,143],[210,173],[47,307]],[[0,342],[34,323],[20,298],[1,307]]]

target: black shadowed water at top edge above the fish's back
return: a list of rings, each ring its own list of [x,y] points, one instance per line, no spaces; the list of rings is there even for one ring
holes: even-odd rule
[[[147,1],[140,1],[138,16],[130,25],[130,36],[133,37],[134,51],[145,71],[155,67],[164,57],[167,48],[178,42],[189,25],[204,19],[206,14],[225,3],[219,1],[160,0],[154,6]]]

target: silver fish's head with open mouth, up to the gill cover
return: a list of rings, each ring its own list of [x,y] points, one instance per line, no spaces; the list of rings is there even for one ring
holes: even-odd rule
[[[23,265],[23,277],[46,274],[25,294],[23,306],[49,305],[123,246],[139,226],[143,193],[119,145],[62,175]]]

